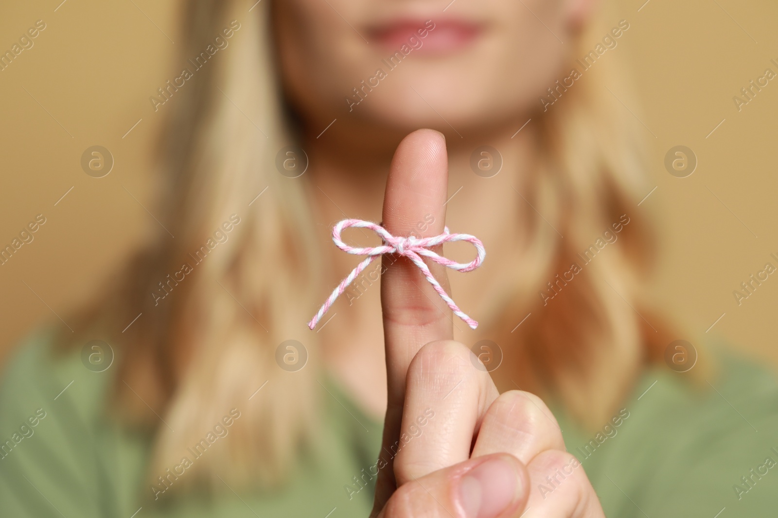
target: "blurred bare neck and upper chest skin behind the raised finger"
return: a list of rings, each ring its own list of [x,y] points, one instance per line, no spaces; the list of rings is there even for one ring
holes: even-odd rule
[[[500,127],[478,141],[465,140],[457,134],[447,135],[450,196],[447,225],[451,231],[476,235],[487,250],[485,266],[468,276],[450,273],[449,279],[452,297],[462,308],[470,308],[477,319],[489,317],[484,311],[491,308],[489,301],[495,300],[504,285],[501,278],[516,263],[520,252],[517,200],[524,201],[518,193],[523,190],[524,179],[531,174],[534,155],[531,128],[524,127],[516,133],[518,127],[520,124]],[[479,134],[483,136],[485,132]],[[356,266],[353,256],[331,245],[329,228],[347,217],[380,221],[391,155],[399,142],[360,145],[360,149],[368,151],[354,152],[356,146],[350,146],[342,135],[338,137],[341,138],[332,141],[310,137],[305,142],[310,160],[308,181],[312,185],[314,219],[317,227],[327,228],[321,228],[317,235],[321,235],[322,250],[331,265],[325,277],[328,286],[339,283]],[[496,162],[501,159],[502,167],[496,176],[485,177],[489,173],[478,176],[471,168],[474,151],[482,146],[499,150],[499,157],[493,152],[476,157],[476,160]],[[482,165],[487,164],[482,162]],[[367,231],[352,231],[345,237],[354,245],[370,246],[377,242],[376,236]],[[447,255],[469,261],[472,251],[454,245],[447,249]],[[341,303],[344,309],[333,311],[335,316],[321,330],[324,363],[366,412],[376,417],[383,415],[386,404],[379,295],[380,283],[373,273],[359,283],[358,290],[345,296],[349,304]],[[464,341],[467,326],[457,324],[454,322],[454,339]]]

